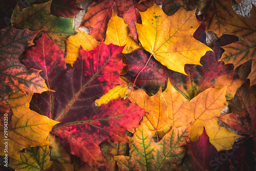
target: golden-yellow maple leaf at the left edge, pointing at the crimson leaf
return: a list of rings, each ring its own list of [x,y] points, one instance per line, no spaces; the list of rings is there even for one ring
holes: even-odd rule
[[[29,109],[29,103],[33,93],[28,95],[11,94],[9,97],[12,116],[12,129],[8,130],[8,156],[16,160],[20,159],[20,151],[29,146],[41,146],[49,144],[46,140],[48,133],[52,127],[59,123],[51,120],[46,116],[41,116],[38,113]],[[4,137],[4,132],[0,132],[1,137]],[[1,144],[4,144],[4,138],[1,139]],[[1,145],[1,155],[5,156],[5,146]]]

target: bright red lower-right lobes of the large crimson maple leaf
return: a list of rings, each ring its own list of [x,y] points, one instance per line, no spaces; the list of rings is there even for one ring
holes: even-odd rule
[[[97,168],[102,160],[97,144],[102,141],[128,142],[125,130],[137,127],[144,112],[136,104],[122,99],[91,110],[78,123],[66,122],[55,127],[53,132],[68,142],[71,139],[71,153]],[[74,129],[74,125],[77,128]]]

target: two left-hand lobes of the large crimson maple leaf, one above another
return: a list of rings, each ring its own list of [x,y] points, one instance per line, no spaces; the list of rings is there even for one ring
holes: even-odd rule
[[[54,44],[46,33],[36,40],[36,45],[26,50],[26,58],[23,60],[24,65],[30,69],[35,68],[42,70],[40,75],[45,79],[49,89],[56,90],[58,88],[59,79],[64,79],[66,74],[66,63],[63,58],[64,50]],[[56,69],[57,68],[57,69]],[[56,99],[56,93],[44,92],[42,94],[34,94],[31,100],[30,109],[53,119],[52,109],[53,100]]]

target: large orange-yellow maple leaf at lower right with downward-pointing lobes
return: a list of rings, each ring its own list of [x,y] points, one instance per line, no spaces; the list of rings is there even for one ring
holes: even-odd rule
[[[209,140],[218,151],[232,148],[233,142],[241,137],[218,125],[221,111],[226,108],[226,90],[209,88],[188,103],[183,105],[177,115],[174,115],[175,127],[191,124],[190,139],[198,141],[204,127]]]

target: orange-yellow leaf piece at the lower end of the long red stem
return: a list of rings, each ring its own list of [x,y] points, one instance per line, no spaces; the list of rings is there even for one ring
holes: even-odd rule
[[[168,118],[167,103],[161,90],[160,88],[157,94],[150,97],[142,89],[139,89],[134,90],[130,96],[131,102],[146,111],[143,119],[152,135],[166,129],[171,123]]]

